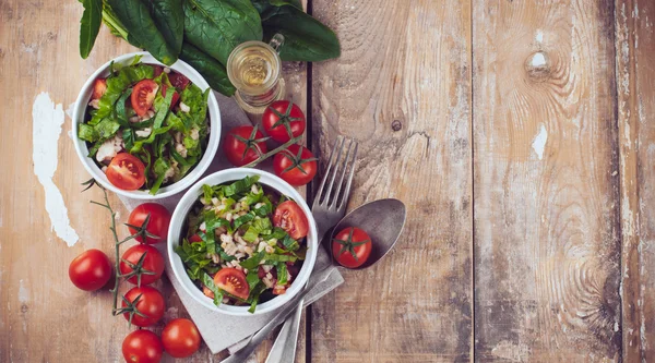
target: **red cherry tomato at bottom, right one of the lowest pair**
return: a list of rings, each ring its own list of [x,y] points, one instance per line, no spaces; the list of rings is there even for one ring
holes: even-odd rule
[[[162,331],[162,342],[168,354],[187,358],[200,348],[200,332],[189,319],[174,319]]]

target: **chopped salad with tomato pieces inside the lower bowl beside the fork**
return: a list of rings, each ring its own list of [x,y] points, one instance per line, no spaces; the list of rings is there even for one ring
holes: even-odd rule
[[[203,185],[176,247],[189,278],[214,304],[250,305],[286,292],[307,245],[307,216],[259,177]]]

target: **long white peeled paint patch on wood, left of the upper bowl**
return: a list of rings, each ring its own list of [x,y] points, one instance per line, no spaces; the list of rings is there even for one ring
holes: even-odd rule
[[[46,193],[46,210],[50,216],[51,230],[69,246],[80,237],[70,226],[68,209],[61,192],[52,181],[57,170],[57,143],[63,124],[61,104],[55,106],[50,96],[43,92],[32,106],[32,159],[34,173]]]

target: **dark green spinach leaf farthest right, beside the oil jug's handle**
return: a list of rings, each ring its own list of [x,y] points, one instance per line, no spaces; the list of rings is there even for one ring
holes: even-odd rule
[[[271,8],[262,15],[262,26],[265,39],[284,35],[283,61],[318,62],[341,56],[334,32],[294,5]]]

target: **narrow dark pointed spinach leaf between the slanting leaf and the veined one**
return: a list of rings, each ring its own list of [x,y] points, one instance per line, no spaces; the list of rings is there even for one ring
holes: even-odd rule
[[[182,0],[143,0],[150,5],[151,15],[159,33],[176,55],[182,49],[184,14]]]

